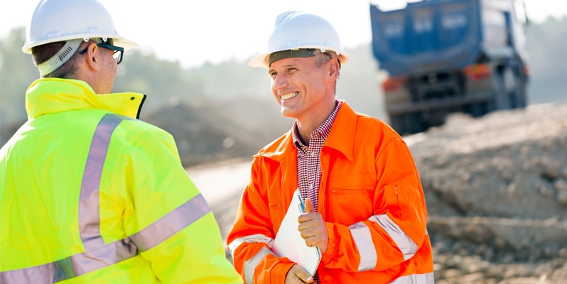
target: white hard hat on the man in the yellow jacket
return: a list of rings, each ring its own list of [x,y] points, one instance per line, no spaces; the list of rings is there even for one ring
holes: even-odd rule
[[[117,33],[112,16],[97,0],[42,0],[28,24],[22,51],[79,38],[112,38],[113,45],[125,50],[138,46]]]

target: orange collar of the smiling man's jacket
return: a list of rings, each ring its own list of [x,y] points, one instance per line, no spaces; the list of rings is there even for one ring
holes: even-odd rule
[[[354,156],[355,146],[355,130],[356,130],[357,114],[344,101],[339,109],[333,127],[331,127],[329,136],[323,144],[325,147],[333,148],[340,151],[348,160],[352,160]],[[276,141],[264,147],[254,157],[266,157],[281,162],[287,155],[297,155],[297,148],[293,146],[293,129],[288,131]]]

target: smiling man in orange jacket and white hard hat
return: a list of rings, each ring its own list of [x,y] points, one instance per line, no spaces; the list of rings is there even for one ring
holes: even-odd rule
[[[384,122],[336,99],[348,60],[335,28],[320,16],[276,18],[266,67],[293,127],[254,155],[227,242],[247,283],[433,283],[427,210],[404,140]],[[315,275],[271,250],[293,192],[306,213],[298,230],[322,258]]]

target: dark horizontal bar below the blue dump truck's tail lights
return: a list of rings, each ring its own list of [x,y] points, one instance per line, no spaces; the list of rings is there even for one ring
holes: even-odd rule
[[[389,115],[409,114],[419,111],[432,111],[436,109],[451,109],[466,104],[477,104],[490,102],[494,94],[492,92],[475,92],[463,94],[458,97],[444,97],[443,99],[429,99],[422,102],[403,102],[388,104],[386,111]]]

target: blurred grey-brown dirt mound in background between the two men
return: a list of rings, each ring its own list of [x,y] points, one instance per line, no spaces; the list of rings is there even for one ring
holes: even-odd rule
[[[185,167],[251,157],[293,123],[276,102],[251,98],[173,101],[141,119],[173,135]]]

